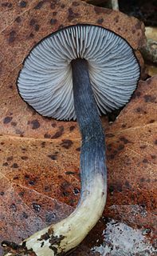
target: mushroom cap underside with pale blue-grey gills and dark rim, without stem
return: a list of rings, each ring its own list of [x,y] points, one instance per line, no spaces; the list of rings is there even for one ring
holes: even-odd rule
[[[76,119],[70,64],[76,58],[88,61],[100,112],[128,102],[140,75],[131,46],[111,30],[85,24],[58,30],[33,47],[18,77],[22,98],[43,116]]]

